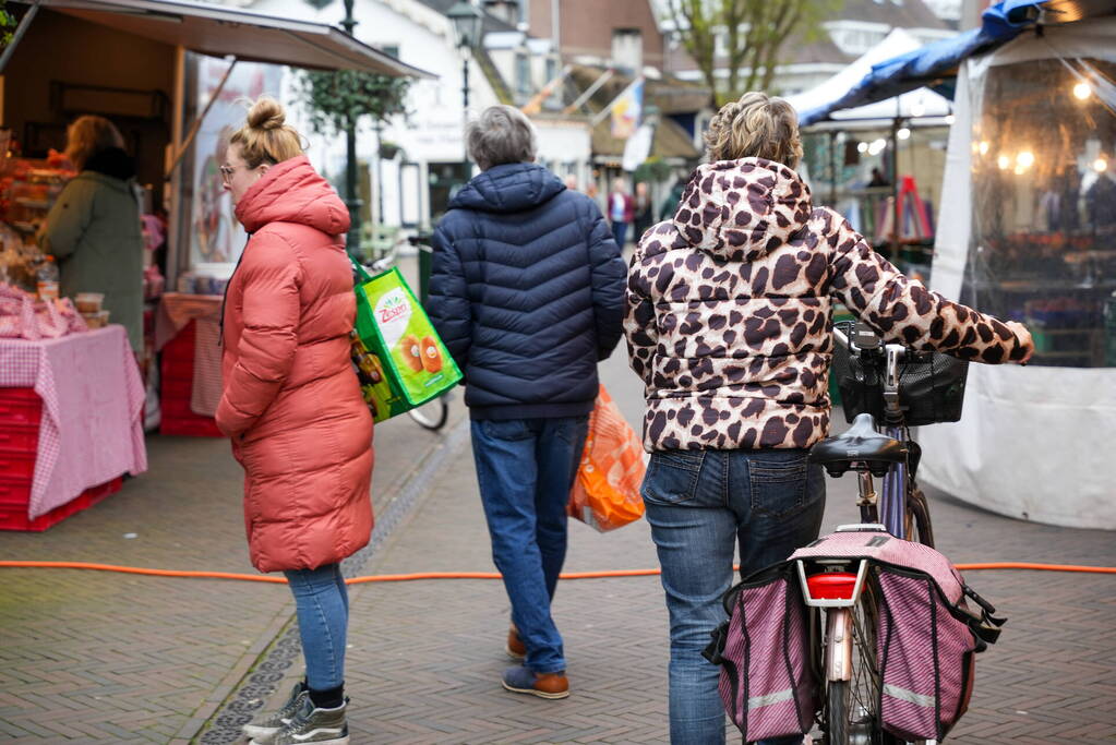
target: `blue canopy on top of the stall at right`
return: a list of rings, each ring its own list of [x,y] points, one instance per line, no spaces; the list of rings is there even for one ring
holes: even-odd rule
[[[806,126],[827,118],[833,112],[885,100],[915,88],[929,87],[953,98],[958,65],[974,55],[991,51],[1035,26],[1043,10],[1055,2],[1047,0],[1003,0],[983,12],[980,28],[942,39],[877,65],[863,80],[828,104],[798,116]]]

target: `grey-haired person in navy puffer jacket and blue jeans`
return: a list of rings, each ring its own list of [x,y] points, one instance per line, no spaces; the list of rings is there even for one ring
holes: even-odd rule
[[[550,617],[566,504],[597,397],[597,362],[623,335],[627,268],[588,196],[533,163],[536,134],[493,106],[466,132],[480,166],[434,231],[429,310],[465,375],[492,558],[511,600],[508,690],[569,695]]]

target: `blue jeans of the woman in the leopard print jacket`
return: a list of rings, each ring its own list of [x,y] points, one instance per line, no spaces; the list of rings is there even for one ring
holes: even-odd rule
[[[806,451],[664,451],[643,482],[651,535],[671,617],[671,742],[724,742],[721,668],[701,652],[725,619],[721,598],[740,574],[785,560],[818,536],[825,510],[821,466]],[[802,738],[763,741],[797,745]]]

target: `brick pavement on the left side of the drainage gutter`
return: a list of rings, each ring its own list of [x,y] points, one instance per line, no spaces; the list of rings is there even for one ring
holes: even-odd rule
[[[441,441],[406,417],[376,428],[377,513]],[[0,533],[0,559],[256,573],[228,442],[147,447],[148,473],[45,533]],[[278,584],[0,570],[0,742],[189,741],[292,612]]]

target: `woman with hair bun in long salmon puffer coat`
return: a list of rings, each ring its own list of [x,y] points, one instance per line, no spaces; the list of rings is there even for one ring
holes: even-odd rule
[[[217,423],[244,467],[252,563],[295,593],[306,678],[283,707],[244,727],[252,743],[348,742],[348,598],[340,561],[372,532],[372,416],[349,364],[356,317],[333,187],[261,98],[221,167],[250,238],[224,303],[224,393]]]

